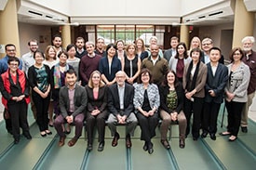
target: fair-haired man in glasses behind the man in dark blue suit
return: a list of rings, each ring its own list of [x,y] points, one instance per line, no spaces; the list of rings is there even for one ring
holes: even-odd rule
[[[210,38],[205,38],[202,41],[202,48],[203,48],[203,56],[201,58],[201,61],[205,64],[208,64],[210,59],[209,59],[209,49],[213,47],[213,41]],[[221,59],[219,59],[219,62],[224,64],[224,57],[221,55]]]

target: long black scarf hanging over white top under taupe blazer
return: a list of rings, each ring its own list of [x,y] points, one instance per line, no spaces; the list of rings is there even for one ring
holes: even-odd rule
[[[187,91],[192,91],[195,89],[195,82],[196,82],[196,78],[197,78],[197,74],[199,72],[199,66],[200,66],[200,61],[197,62],[196,64],[196,68],[195,68],[195,73],[194,73],[194,76],[193,76],[193,79],[192,79],[192,84],[190,85],[190,74],[191,74],[191,71],[192,71],[192,68],[193,68],[193,61],[190,62],[189,64],[189,67],[188,67],[188,70],[187,70],[187,74],[186,74],[186,88]]]

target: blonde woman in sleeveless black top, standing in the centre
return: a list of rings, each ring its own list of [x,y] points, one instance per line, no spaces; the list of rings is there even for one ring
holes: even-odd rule
[[[127,56],[125,57],[124,72],[127,74],[129,84],[137,82],[137,77],[141,72],[141,59],[136,55],[136,46],[130,44],[127,47]]]

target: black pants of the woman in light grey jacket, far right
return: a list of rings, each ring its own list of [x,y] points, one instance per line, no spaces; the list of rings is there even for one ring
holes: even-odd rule
[[[241,123],[241,115],[245,102],[228,102],[225,100],[227,110],[227,131],[237,137],[239,126]]]

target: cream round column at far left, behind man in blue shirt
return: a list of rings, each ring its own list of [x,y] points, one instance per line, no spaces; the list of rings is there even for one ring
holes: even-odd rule
[[[16,0],[8,0],[5,10],[0,11],[0,25],[0,45],[15,45],[17,50],[16,55],[20,57],[20,38]],[[0,58],[3,58],[4,56],[6,56],[5,52],[0,53]]]

